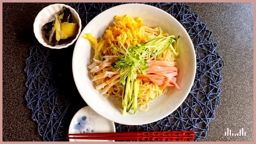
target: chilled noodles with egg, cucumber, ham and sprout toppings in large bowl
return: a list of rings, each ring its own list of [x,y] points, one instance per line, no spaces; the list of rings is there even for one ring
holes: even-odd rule
[[[179,37],[163,33],[160,27],[145,26],[140,17],[115,16],[99,41],[89,40],[94,56],[88,66],[95,88],[105,96],[122,98],[123,115],[149,109],[149,103],[177,85]]]

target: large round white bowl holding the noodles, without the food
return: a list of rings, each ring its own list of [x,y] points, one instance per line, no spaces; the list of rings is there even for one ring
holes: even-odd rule
[[[111,24],[115,15],[141,17],[145,25],[160,26],[164,32],[180,37],[180,56],[177,59],[178,81],[181,90],[170,88],[167,94],[161,95],[150,103],[146,112],[130,110],[125,116],[121,114],[122,104],[116,98],[105,98],[94,88],[89,77],[87,66],[90,64],[91,46],[81,35],[91,33],[99,38]],[[174,112],[186,99],[194,82],[196,56],[193,43],[182,25],[170,14],[153,6],[144,4],[125,4],[112,7],[92,19],[83,29],[73,53],[73,76],[79,93],[95,112],[110,121],[125,125],[143,125],[165,118]]]

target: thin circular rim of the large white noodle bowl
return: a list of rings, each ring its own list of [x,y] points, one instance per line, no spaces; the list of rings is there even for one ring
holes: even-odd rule
[[[141,5],[141,6],[147,6],[147,7],[154,7],[154,6],[150,6],[150,5],[146,5],[146,4],[142,4],[142,3],[127,3],[127,4],[123,4],[123,5],[126,5],[126,6]],[[118,5],[118,6],[114,6],[114,7],[119,7],[119,6],[122,6],[122,5]],[[89,24],[90,24],[94,19],[97,19],[97,17],[101,16],[104,12],[113,9],[114,7],[111,7],[111,8],[109,8],[109,9],[107,9],[107,10],[101,12],[101,13],[98,14],[97,16],[95,16],[95,17],[84,27],[84,29],[86,29],[87,26],[89,26]],[[164,11],[164,10],[162,10],[162,9],[159,9],[159,8],[157,8],[157,7],[154,7],[154,8],[156,8],[156,9],[158,9],[158,10],[160,10],[160,11],[166,13],[166,14],[168,14],[169,17],[174,18],[172,15],[170,15],[170,14],[167,13],[166,11]],[[194,44],[193,44],[193,42],[192,42],[192,40],[191,40],[189,34],[187,33],[187,30],[181,25],[181,23],[179,23],[179,21],[178,21],[176,18],[174,18],[174,21],[177,22],[178,25],[180,25],[184,31],[186,31],[186,35],[189,37],[188,45],[191,45],[191,46],[193,47],[193,52],[194,52],[194,53],[193,53],[193,57],[194,57],[195,69],[194,69],[194,71],[191,73],[191,75],[192,75],[192,77],[195,79],[195,75],[196,75],[196,63],[197,63],[197,62],[196,62],[196,55],[195,55]],[[84,29],[83,29],[83,30],[84,30]],[[83,30],[82,30],[82,31],[83,31]],[[81,37],[81,36],[82,36],[82,33],[79,35],[79,37]],[[75,44],[74,51],[75,51],[75,49],[76,49],[76,45],[77,45],[77,43]],[[73,51],[73,56],[72,56],[72,72],[73,72],[73,78],[74,78],[75,85],[76,85],[76,87],[77,87],[77,90],[78,90],[79,94],[81,95],[81,92],[80,92],[80,90],[79,90],[79,88],[78,88],[78,86],[77,86],[77,83],[76,83],[76,81],[75,81],[75,75],[74,75],[74,64],[73,64],[73,63],[74,63],[74,51]],[[119,123],[119,124],[123,124],[123,125],[145,125],[145,124],[149,124],[149,123],[153,123],[153,122],[159,121],[159,120],[161,120],[161,119],[167,117],[167,116],[170,115],[171,113],[173,113],[175,110],[177,110],[178,107],[181,106],[181,104],[185,101],[185,99],[186,99],[187,96],[189,95],[190,90],[191,90],[191,88],[192,88],[192,86],[193,86],[193,83],[194,83],[194,81],[193,81],[192,83],[190,83],[189,90],[187,90],[187,92],[186,92],[186,96],[184,96],[184,98],[182,99],[182,101],[181,101],[173,110],[170,110],[168,113],[166,113],[166,114],[163,115],[162,117],[157,117],[157,118],[151,119],[150,121],[141,122],[141,123],[136,123],[136,124],[135,124],[134,122],[123,123],[122,121],[117,121],[117,120],[115,120],[114,117],[113,117],[113,118],[112,118],[112,117],[105,117],[105,116],[101,115],[100,113],[98,113],[98,111],[94,110],[93,107],[91,107],[91,103],[87,103],[87,102],[86,102],[86,99],[85,99],[82,95],[81,95],[81,97],[82,97],[83,100],[86,102],[86,104],[91,107],[92,110],[94,110],[96,113],[98,113],[99,115],[101,115],[102,117],[104,117],[104,118],[106,118],[106,119],[108,119],[108,120],[110,120],[110,121],[113,121],[113,122]]]

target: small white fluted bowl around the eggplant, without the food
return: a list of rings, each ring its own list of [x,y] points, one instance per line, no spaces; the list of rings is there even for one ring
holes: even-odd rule
[[[56,46],[50,46],[48,44],[48,40],[45,38],[45,32],[42,31],[41,28],[45,23],[49,22],[51,20],[51,18],[53,18],[54,14],[61,11],[63,6],[70,9],[70,11],[72,13],[72,22],[78,23],[78,25],[79,25],[78,34],[71,42],[62,43],[61,45],[56,45]],[[45,8],[43,8],[38,13],[37,17],[35,18],[33,26],[34,26],[34,34],[35,34],[35,37],[37,38],[38,42],[41,43],[43,46],[49,47],[51,49],[62,49],[62,48],[72,45],[77,40],[77,38],[81,32],[81,28],[82,28],[81,19],[80,19],[78,13],[72,7],[70,7],[68,5],[64,5],[64,4],[59,4],[59,3],[49,5]]]

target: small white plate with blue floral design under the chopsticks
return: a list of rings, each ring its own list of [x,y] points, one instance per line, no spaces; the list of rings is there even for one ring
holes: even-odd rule
[[[69,134],[75,133],[109,133],[115,132],[115,124],[94,112],[89,106],[80,109],[71,120]],[[70,136],[75,137],[75,136]],[[90,139],[69,139],[79,141],[108,141]]]

